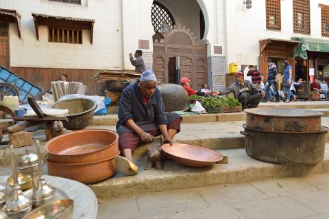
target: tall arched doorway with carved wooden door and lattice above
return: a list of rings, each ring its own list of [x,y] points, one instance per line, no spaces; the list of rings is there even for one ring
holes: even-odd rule
[[[153,63],[157,78],[164,83],[180,84],[180,78],[186,77],[191,79],[193,89],[201,89],[207,83],[208,62],[206,45],[200,43],[204,42],[204,34],[208,31],[199,2],[153,1],[151,20],[155,32]],[[193,31],[175,24],[176,21]],[[166,25],[168,28],[164,28]]]

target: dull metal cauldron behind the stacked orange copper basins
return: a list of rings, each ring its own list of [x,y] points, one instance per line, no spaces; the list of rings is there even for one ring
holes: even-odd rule
[[[69,130],[79,130],[88,126],[93,121],[96,107],[95,100],[85,98],[62,100],[51,106],[51,108],[69,109],[67,116],[69,121],[63,122],[64,128]]]

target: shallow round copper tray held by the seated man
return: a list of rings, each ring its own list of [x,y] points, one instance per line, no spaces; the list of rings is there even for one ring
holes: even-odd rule
[[[215,150],[185,143],[173,143],[172,146],[166,143],[161,148],[170,154],[174,161],[192,168],[202,168],[223,159],[223,156]]]

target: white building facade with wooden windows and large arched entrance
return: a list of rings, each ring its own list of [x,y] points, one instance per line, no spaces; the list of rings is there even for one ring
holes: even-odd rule
[[[306,60],[304,80],[310,79],[309,69],[315,69],[315,76],[326,76],[326,49],[307,50],[306,59],[289,56],[300,45],[293,37],[329,45],[324,16],[328,1],[253,0],[249,9],[244,2],[0,0],[1,28],[8,23],[7,35],[1,35],[8,39],[8,49],[2,43],[0,55],[5,58],[0,65],[46,91],[51,80],[71,73],[69,80],[84,82],[87,93],[94,95],[99,95],[103,84],[90,77],[99,70],[133,70],[128,54],[136,49],[143,50],[147,68],[154,69],[163,82],[186,76],[194,89],[204,83],[212,89],[225,88],[231,63],[242,71],[246,65],[257,65],[266,78],[266,58],[273,58],[278,66],[284,58],[293,65]],[[155,4],[158,14],[154,14]],[[166,14],[175,26],[157,34],[153,24],[162,23]],[[273,51],[278,47],[276,55]],[[180,69],[179,76],[175,69]]]

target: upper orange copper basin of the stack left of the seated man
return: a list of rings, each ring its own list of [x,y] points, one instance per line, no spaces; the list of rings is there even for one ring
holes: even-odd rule
[[[77,130],[47,141],[45,151],[53,163],[93,163],[117,156],[118,139],[119,135],[112,130]]]

